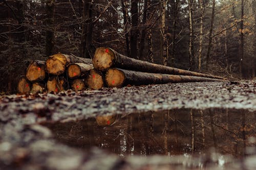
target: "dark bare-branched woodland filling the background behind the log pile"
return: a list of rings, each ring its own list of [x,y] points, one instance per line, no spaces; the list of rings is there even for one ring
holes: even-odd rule
[[[254,0],[0,2],[0,86],[15,92],[32,60],[92,58],[106,46],[131,58],[253,79]]]

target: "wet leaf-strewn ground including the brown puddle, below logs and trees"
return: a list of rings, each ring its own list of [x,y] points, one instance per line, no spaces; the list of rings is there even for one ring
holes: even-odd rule
[[[256,81],[0,96],[0,169],[255,169]]]

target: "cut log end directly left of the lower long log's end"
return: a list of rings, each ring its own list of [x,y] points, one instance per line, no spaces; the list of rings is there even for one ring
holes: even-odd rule
[[[92,69],[89,71],[88,75],[84,79],[84,82],[88,87],[91,89],[100,89],[104,87],[104,78],[100,71],[97,71],[96,69]]]

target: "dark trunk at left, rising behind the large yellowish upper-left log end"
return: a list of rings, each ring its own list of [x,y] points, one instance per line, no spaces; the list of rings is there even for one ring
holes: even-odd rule
[[[50,56],[53,53],[54,45],[54,6],[55,0],[46,1],[46,56]]]

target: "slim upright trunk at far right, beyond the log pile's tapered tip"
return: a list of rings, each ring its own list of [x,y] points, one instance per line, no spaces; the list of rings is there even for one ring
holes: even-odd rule
[[[244,0],[241,0],[241,22],[240,22],[240,63],[239,72],[242,79],[243,74],[243,59],[244,59]]]

